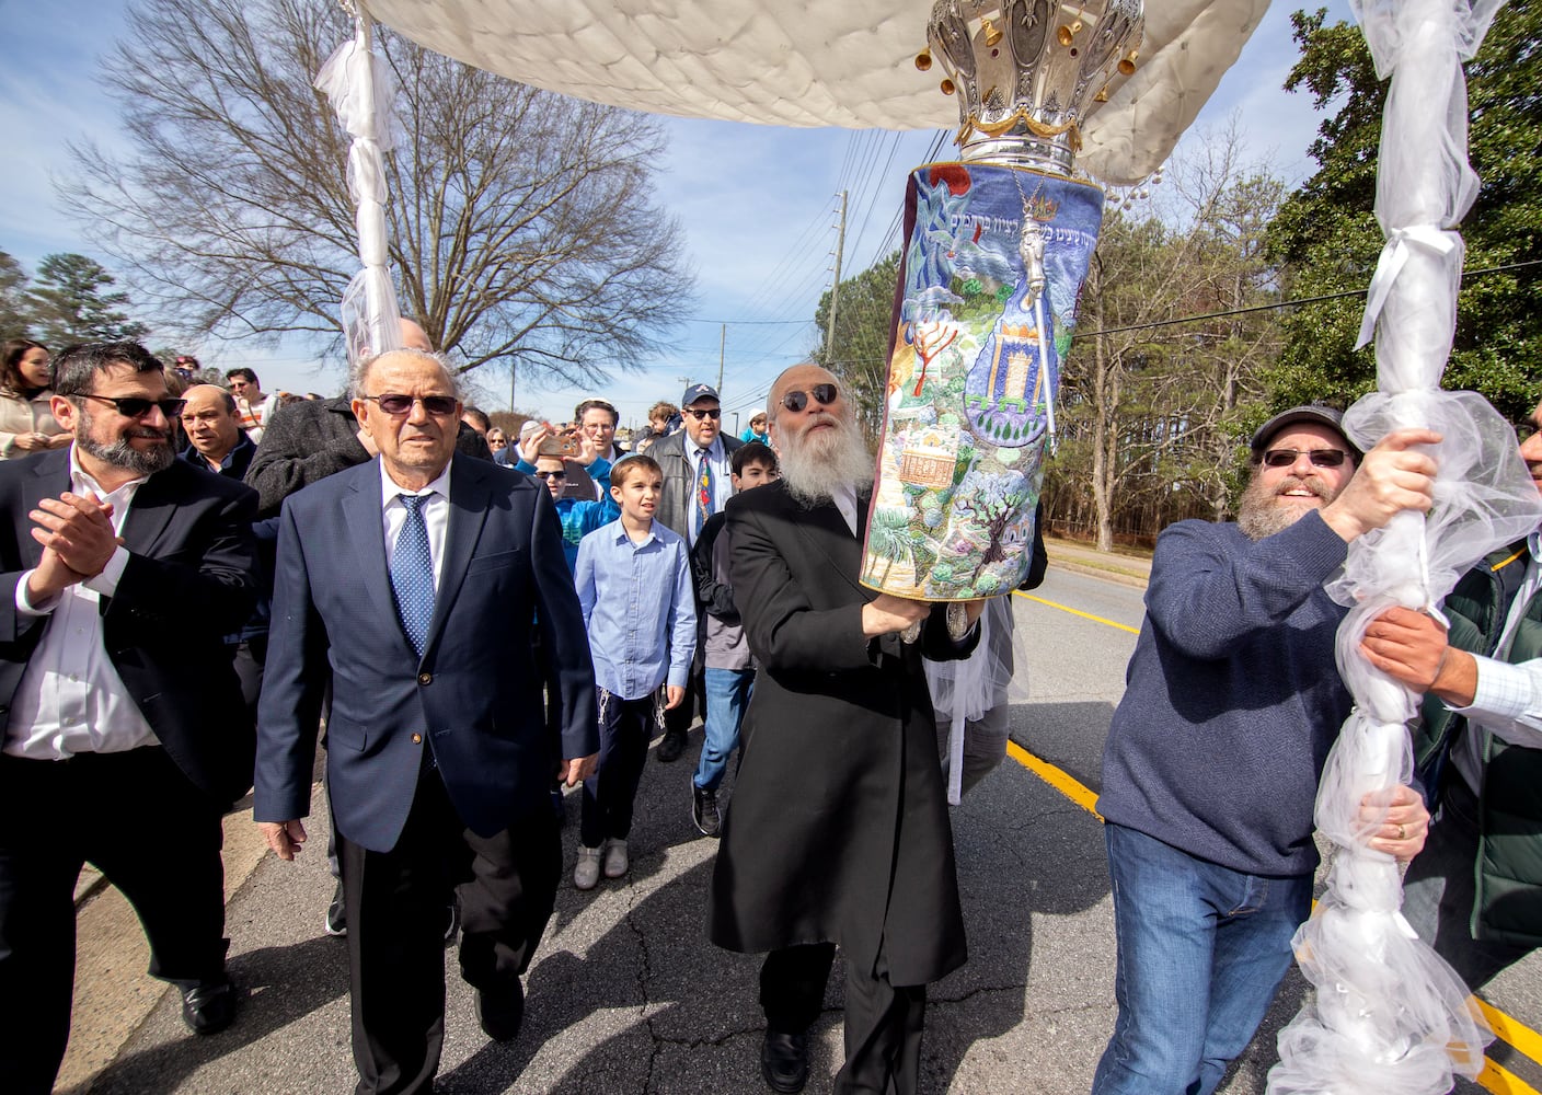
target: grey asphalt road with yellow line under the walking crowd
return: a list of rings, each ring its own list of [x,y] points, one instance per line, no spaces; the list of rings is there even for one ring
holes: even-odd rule
[[[1032,598],[1015,598],[1013,740],[1093,791],[1140,626],[1140,598],[1138,588],[1056,566]],[[571,885],[560,891],[527,979],[529,1012],[517,1043],[497,1046],[481,1035],[470,990],[455,976],[453,948],[447,950],[441,1092],[765,1090],[757,1066],[759,959],[719,952],[702,930],[715,842],[700,837],[689,820],[688,783],[699,748],[694,731],[680,762],[649,760],[631,878],[601,881],[592,893]],[[922,1089],[1086,1092],[1113,1024],[1113,918],[1101,825],[1013,760],[954,810],[953,822],[970,961],[930,992]],[[347,958],[344,944],[321,930],[332,895],[321,848],[296,864],[271,856],[256,862],[250,828],[241,817],[227,827],[236,882],[230,969],[244,992],[236,1026],[204,1039],[185,1032],[176,996],[142,973],[143,945],[131,916],[105,891],[82,908],[77,1032],[59,1090],[352,1090]],[[322,828],[318,817],[311,831]],[[569,870],[575,842],[569,822]],[[241,862],[256,867],[247,871]],[[830,1090],[840,1061],[839,986],[834,976],[816,1027],[806,1089],[813,1095]],[[1486,995],[1533,1027],[1542,1023],[1539,987],[1539,967],[1528,959]],[[1292,975],[1223,1092],[1264,1090],[1274,1033],[1294,1015],[1301,992]],[[1542,1069],[1531,1061],[1511,1055],[1510,1067],[1542,1084]]]

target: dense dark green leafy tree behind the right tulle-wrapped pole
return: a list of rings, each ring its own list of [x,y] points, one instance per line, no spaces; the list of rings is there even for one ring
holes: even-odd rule
[[[1301,59],[1286,89],[1305,88],[1318,110],[1337,103],[1311,147],[1317,173],[1291,194],[1269,231],[1271,254],[1284,265],[1294,298],[1363,290],[1383,242],[1372,207],[1386,83],[1377,80],[1360,31],[1326,19],[1326,9],[1291,17]],[[1502,8],[1466,76],[1470,160],[1483,188],[1460,225],[1465,265],[1534,259],[1542,242],[1542,5]],[[1537,281],[1533,267],[1463,284],[1445,387],[1482,392],[1508,413],[1536,404]],[[1269,372],[1274,406],[1349,403],[1375,387],[1371,347],[1352,349],[1363,308],[1363,298],[1348,296],[1291,312],[1278,367]]]

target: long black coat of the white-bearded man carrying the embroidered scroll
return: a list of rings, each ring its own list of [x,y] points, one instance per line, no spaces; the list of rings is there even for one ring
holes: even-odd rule
[[[862,969],[882,941],[893,984],[941,978],[964,962],[964,922],[921,657],[964,657],[979,631],[951,643],[939,606],[919,643],[865,638],[877,594],[857,583],[862,544],[834,504],[805,509],[780,481],[726,512],[759,671],[708,935],[739,952],[828,939]]]

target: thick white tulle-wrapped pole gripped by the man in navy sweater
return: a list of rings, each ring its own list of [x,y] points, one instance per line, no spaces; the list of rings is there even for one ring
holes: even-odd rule
[[[1477,193],[1462,62],[1497,6],[1355,5],[1377,72],[1392,83],[1375,204],[1386,247],[1362,330],[1362,341],[1375,333],[1380,392],[1349,409],[1345,429],[1362,449],[1400,427],[1428,427],[1443,440],[1433,446],[1439,472],[1428,517],[1400,514],[1355,540],[1343,577],[1329,585],[1351,608],[1337,655],[1355,709],[1317,794],[1317,827],[1334,844],[1328,891],[1295,935],[1297,961],[1317,992],[1280,1032],[1271,1095],[1437,1095],[1454,1075],[1477,1075],[1490,1038],[1465,986],[1403,921],[1399,865],[1368,847],[1379,824],[1362,820],[1362,802],[1412,776],[1406,722],[1417,697],[1359,646],[1392,605],[1434,612],[1462,572],[1542,517],[1514,432],[1480,396],[1439,387],[1462,271],[1456,225]]]

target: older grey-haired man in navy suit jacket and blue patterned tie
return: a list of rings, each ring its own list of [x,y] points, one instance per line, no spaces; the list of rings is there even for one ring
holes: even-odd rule
[[[353,413],[379,458],[284,503],[256,819],[305,841],[321,697],[348,908],[358,1090],[430,1092],[444,1041],[444,904],[461,901],[461,976],[483,1030],[513,1038],[561,871],[550,780],[598,753],[594,669],[546,487],[455,453],[443,361],[364,362]],[[530,629],[560,703],[546,729]]]

